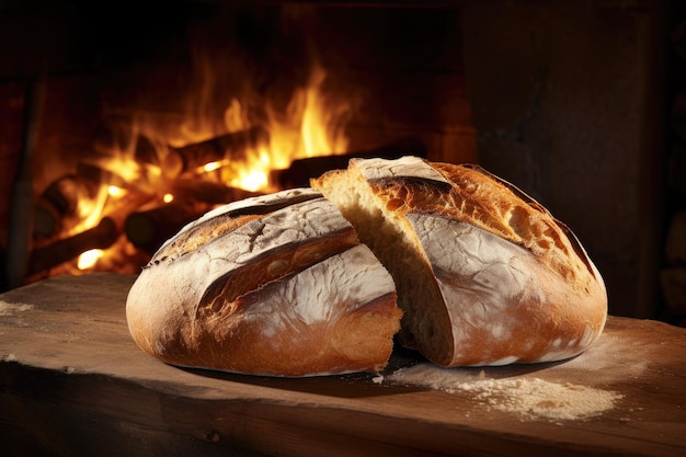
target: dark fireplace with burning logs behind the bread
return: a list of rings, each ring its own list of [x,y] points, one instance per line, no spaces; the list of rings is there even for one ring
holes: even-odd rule
[[[596,261],[611,313],[677,318],[658,287],[662,89],[678,18],[667,7],[1,7],[3,288],[135,274],[213,205],[307,185],[352,156],[413,153],[479,162],[547,206]],[[101,206],[84,215],[98,216],[71,220],[70,198],[85,196]],[[79,265],[91,248],[116,254]]]

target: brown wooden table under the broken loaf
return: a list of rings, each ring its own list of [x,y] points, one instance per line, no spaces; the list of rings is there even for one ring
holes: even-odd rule
[[[619,395],[574,420],[382,376],[304,379],[181,369],[128,334],[133,276],[46,279],[0,295],[0,455],[686,455],[686,329],[610,317],[560,364],[458,368],[460,379],[540,379]],[[483,393],[483,392],[482,392]]]

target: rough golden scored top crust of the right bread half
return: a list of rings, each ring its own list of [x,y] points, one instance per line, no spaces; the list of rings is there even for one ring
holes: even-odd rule
[[[352,161],[387,209],[472,224],[526,248],[575,286],[598,279],[571,230],[514,185],[473,164],[428,164],[416,157],[398,162]]]

